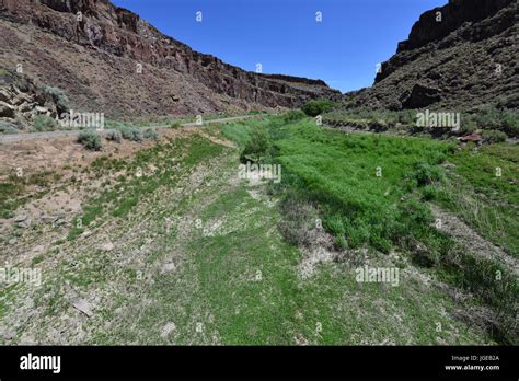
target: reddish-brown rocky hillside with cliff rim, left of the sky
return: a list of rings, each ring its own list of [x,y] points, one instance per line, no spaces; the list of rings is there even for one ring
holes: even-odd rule
[[[292,107],[341,97],[324,82],[244,71],[107,0],[0,0],[0,69],[111,117]],[[7,106],[3,105],[5,108]]]

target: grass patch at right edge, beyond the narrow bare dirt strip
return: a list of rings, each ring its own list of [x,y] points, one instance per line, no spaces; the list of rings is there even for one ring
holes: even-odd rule
[[[438,204],[516,258],[519,258],[518,158],[517,146],[492,145],[477,151],[465,147],[449,158],[455,168],[449,170],[448,180],[436,192]]]

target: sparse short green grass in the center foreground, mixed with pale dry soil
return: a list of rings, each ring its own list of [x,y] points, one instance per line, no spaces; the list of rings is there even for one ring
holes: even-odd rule
[[[441,313],[453,309],[450,299],[416,279],[390,289],[359,285],[353,269],[341,264],[323,265],[315,277],[302,282],[298,275],[302,254],[277,231],[279,211],[251,197],[246,184],[230,185],[238,157],[228,153],[224,165],[215,169],[214,181],[205,182],[193,197],[163,207],[181,221],[200,219],[203,228],[193,228],[184,236],[174,234],[173,241],[171,235],[157,239],[163,249],[153,258],[173,252],[177,269],[157,274],[146,287],[142,299],[151,304],[135,305],[120,296],[117,305],[126,308],[124,319],[92,343],[487,343],[483,333]],[[221,222],[220,230],[208,234],[204,228],[215,221]],[[134,282],[142,289],[135,277],[128,279],[128,287]],[[174,322],[176,328],[162,338],[166,322]],[[197,324],[203,332],[196,332]]]

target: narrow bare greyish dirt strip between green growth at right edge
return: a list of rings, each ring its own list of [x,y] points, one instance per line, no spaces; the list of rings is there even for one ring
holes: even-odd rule
[[[507,268],[514,270],[515,274],[519,274],[518,261],[505,253],[505,251],[503,251],[500,247],[483,239],[472,228],[470,228],[465,222],[460,220],[454,215],[445,211],[432,204],[430,205],[430,209],[435,216],[435,219],[441,221],[439,226],[440,231],[448,233],[458,242],[463,243],[474,254],[484,256],[488,259],[497,259],[498,262],[506,265]]]

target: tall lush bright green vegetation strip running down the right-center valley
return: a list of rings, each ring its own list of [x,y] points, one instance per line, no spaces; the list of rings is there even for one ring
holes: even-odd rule
[[[251,125],[245,131],[227,126],[223,132],[241,147],[247,147],[243,135],[253,136],[257,134],[253,132],[255,129],[265,130],[270,139],[270,155],[264,160],[282,165],[282,182],[273,186],[273,192],[284,199],[284,215],[290,215],[289,205],[309,204],[320,210],[323,226],[341,249],[368,246],[383,253],[393,250],[408,253],[419,266],[434,268],[445,281],[474,292],[482,303],[491,305],[500,324],[494,328],[496,339],[506,343],[517,339],[510,333],[515,314],[511,305],[518,291],[514,275],[495,261],[468,253],[466,247],[438,231],[426,204],[438,196],[438,188],[446,190],[448,176],[441,164],[449,160],[458,163],[459,175],[474,184],[481,182],[482,189],[497,186],[503,189],[497,192],[498,198],[505,197],[517,207],[518,194],[511,181],[517,178],[517,162],[486,154],[469,160],[470,150],[457,152],[454,143],[431,139],[347,136],[308,120],[287,124],[282,118],[274,119]],[[511,183],[506,178],[495,180],[496,160]],[[489,161],[486,170],[472,168],[481,161]],[[449,195],[455,197],[450,192]],[[517,233],[511,229],[504,235],[515,251]],[[495,280],[497,270],[505,274],[503,280]]]

